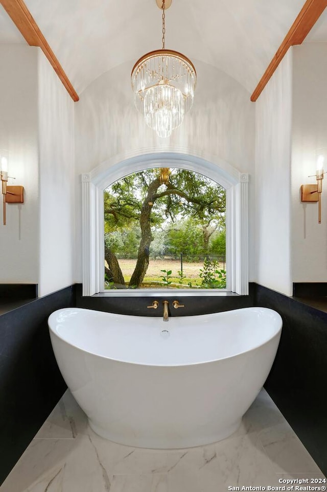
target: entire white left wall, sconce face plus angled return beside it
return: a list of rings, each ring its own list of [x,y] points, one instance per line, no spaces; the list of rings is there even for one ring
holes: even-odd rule
[[[25,188],[0,223],[0,283],[39,284],[42,296],[75,281],[74,103],[39,48],[0,45],[0,66],[0,148],[8,184]]]

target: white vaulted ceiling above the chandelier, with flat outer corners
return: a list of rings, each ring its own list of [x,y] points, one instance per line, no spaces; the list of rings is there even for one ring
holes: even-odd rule
[[[161,48],[155,0],[25,0],[80,94],[121,63]],[[254,90],[304,0],[172,0],[166,48],[216,66]],[[327,41],[327,13],[306,42]],[[0,6],[0,43],[26,43]]]

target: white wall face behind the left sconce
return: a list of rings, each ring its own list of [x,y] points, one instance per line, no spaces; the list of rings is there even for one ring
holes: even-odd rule
[[[0,283],[38,282],[38,49],[0,45],[0,148],[10,151],[8,185],[25,187],[25,203],[7,205],[2,220],[0,198]]]

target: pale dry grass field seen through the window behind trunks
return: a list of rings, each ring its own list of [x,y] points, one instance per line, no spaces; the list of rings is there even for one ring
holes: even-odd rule
[[[119,265],[122,269],[125,282],[129,282],[129,279],[134,271],[136,265],[135,260],[119,260]],[[183,262],[183,275],[186,278],[183,279],[182,287],[188,287],[188,283],[191,282],[194,287],[201,284],[201,278],[199,277],[200,268],[203,268],[203,262]],[[224,268],[223,264],[220,264],[219,268]],[[143,283],[145,287],[150,285],[155,286],[156,283],[161,282],[161,277],[165,275],[160,270],[172,270],[172,286],[179,286],[178,270],[180,270],[179,260],[159,260],[150,259],[149,267],[144,277]],[[160,286],[160,284],[159,284]]]

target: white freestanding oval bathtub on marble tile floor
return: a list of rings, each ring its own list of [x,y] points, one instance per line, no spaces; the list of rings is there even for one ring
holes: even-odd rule
[[[49,317],[58,366],[112,441],[141,448],[224,439],[264,384],[282,330],[266,308],[202,316],[125,316],[78,308]]]

